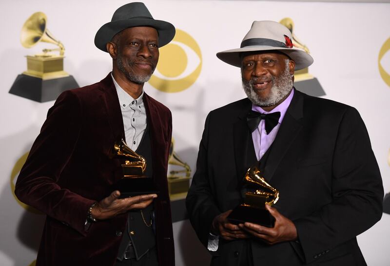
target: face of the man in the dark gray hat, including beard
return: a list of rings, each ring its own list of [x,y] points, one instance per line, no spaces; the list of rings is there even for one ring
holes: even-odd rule
[[[147,82],[158,62],[158,34],[151,27],[132,27],[114,36],[116,49],[108,50],[114,59],[114,68],[136,84]]]

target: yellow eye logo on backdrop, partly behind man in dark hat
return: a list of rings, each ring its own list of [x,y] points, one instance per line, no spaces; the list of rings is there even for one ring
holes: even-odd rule
[[[164,92],[188,89],[199,77],[202,54],[195,39],[176,29],[175,38],[160,48],[158,64],[149,84]]]

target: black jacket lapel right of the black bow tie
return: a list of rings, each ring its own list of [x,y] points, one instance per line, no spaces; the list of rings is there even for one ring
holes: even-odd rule
[[[298,136],[302,128],[301,118],[303,117],[303,96],[294,89],[294,96],[287,109],[286,115],[280,125],[276,138],[273,141],[270,155],[264,169],[264,177],[271,180],[280,161],[283,159],[290,145]]]

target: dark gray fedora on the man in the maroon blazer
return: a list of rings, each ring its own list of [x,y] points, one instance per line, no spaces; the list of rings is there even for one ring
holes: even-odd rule
[[[174,25],[154,19],[144,3],[134,2],[119,7],[115,11],[111,22],[100,27],[95,35],[95,45],[101,51],[107,52],[107,42],[111,41],[117,33],[127,28],[142,26],[157,30],[159,47],[168,44],[176,33]]]

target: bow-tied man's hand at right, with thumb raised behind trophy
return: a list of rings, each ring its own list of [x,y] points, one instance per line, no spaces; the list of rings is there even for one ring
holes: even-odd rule
[[[260,238],[264,242],[273,245],[284,241],[296,240],[298,234],[296,232],[295,225],[290,219],[280,214],[275,208],[272,208],[266,204],[266,209],[275,218],[275,225],[273,228],[261,226],[253,223],[239,224],[238,227],[252,234],[253,236]]]

